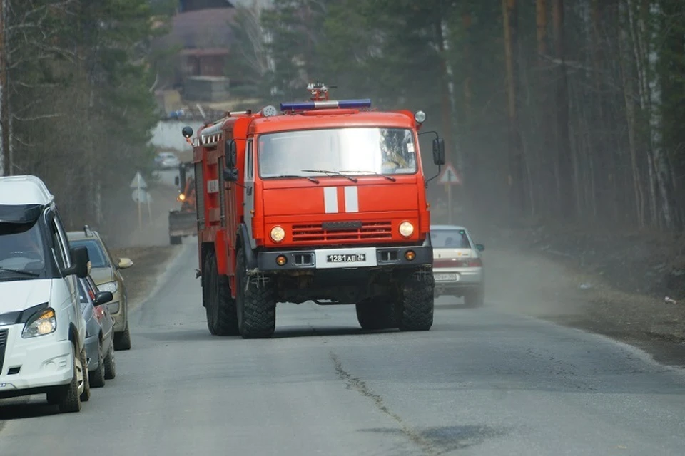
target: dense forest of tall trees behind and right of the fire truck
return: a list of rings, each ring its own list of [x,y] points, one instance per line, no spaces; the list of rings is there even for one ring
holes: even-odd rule
[[[472,212],[683,229],[685,2],[276,0],[236,22],[243,95],[324,81],[425,110]]]

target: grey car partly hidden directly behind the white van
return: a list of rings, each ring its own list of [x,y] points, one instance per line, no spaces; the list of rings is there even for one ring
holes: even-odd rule
[[[93,279],[78,279],[81,313],[86,320],[86,356],[91,387],[101,388],[116,375],[114,365],[114,318],[106,305],[110,291],[99,291]]]

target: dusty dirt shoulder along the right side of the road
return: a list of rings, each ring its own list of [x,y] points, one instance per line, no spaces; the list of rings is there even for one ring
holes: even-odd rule
[[[487,300],[495,306],[604,334],[685,366],[681,239],[544,228],[489,237]]]

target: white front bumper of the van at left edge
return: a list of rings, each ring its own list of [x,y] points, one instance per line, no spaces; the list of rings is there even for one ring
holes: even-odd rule
[[[0,370],[0,398],[71,382],[71,341],[59,341],[56,334],[24,339],[23,325],[0,329],[8,330]]]

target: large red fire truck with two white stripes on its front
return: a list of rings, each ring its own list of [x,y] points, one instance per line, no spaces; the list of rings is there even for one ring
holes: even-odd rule
[[[277,303],[355,304],[365,329],[433,322],[422,111],[311,99],[225,113],[193,146],[198,276],[210,333],[268,338]],[[445,163],[436,132],[433,161]]]

